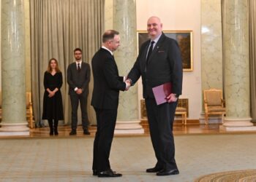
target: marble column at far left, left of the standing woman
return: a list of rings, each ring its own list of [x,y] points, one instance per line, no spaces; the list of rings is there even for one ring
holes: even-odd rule
[[[0,135],[29,135],[26,122],[24,1],[1,0]]]

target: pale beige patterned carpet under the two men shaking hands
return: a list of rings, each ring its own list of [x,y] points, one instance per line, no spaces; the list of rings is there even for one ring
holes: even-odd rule
[[[91,175],[93,138],[48,137],[0,140],[0,181],[195,181],[202,175],[252,170],[256,164],[255,134],[176,135],[180,174],[159,177],[145,173],[155,161],[150,138],[116,137],[110,154],[121,178]]]

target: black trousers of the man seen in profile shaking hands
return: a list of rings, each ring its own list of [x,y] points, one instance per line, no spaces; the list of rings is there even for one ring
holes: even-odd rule
[[[99,172],[110,169],[110,149],[116,126],[116,109],[94,108],[97,116],[97,132],[94,138],[92,170]]]

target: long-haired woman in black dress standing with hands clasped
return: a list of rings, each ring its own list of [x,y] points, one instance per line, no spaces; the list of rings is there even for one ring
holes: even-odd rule
[[[42,111],[42,119],[48,119],[50,135],[59,135],[58,122],[64,119],[61,86],[62,74],[59,70],[58,61],[51,58],[44,76],[45,94]]]

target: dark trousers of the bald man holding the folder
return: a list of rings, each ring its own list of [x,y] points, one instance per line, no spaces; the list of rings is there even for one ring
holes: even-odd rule
[[[156,167],[166,170],[177,169],[173,140],[173,119],[176,106],[177,102],[157,106],[154,99],[146,99],[151,142],[157,157]]]

